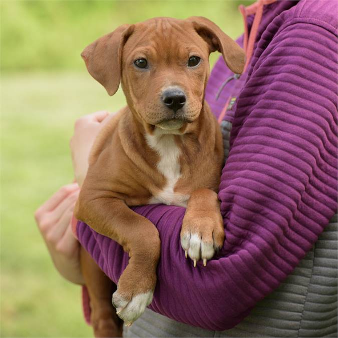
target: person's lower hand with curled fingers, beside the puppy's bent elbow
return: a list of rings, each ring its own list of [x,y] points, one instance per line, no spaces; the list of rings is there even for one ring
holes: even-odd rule
[[[80,244],[71,227],[79,191],[77,183],[61,187],[37,209],[35,219],[60,274],[73,283],[84,284],[80,267]]]

